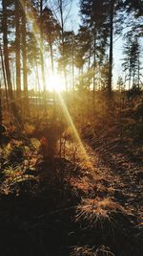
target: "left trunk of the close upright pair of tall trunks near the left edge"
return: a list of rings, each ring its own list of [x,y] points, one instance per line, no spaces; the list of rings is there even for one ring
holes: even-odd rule
[[[21,77],[20,77],[20,6],[19,0],[15,0],[15,50],[16,50],[16,95],[21,94]]]

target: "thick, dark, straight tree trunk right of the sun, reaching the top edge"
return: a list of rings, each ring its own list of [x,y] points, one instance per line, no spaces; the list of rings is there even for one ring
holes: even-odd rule
[[[108,98],[112,97],[112,42],[113,42],[113,11],[114,0],[110,3],[110,59],[109,59],[109,78],[108,78]]]

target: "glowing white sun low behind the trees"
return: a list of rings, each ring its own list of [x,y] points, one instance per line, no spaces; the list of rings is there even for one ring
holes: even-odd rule
[[[48,79],[47,89],[55,92],[62,92],[65,90],[65,81],[59,75],[50,76]]]

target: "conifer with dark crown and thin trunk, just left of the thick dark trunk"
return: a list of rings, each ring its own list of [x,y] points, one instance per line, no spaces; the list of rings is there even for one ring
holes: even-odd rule
[[[107,46],[107,37],[109,29],[106,26],[106,1],[81,0],[80,8],[83,23],[86,24],[89,31],[89,61],[92,60],[92,92],[93,109],[94,93],[96,87],[97,62],[102,63],[105,49]],[[105,28],[106,26],[106,28]],[[102,50],[101,50],[102,45]]]

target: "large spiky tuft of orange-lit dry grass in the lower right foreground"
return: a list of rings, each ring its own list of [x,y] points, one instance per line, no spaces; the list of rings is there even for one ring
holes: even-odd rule
[[[110,231],[113,234],[115,215],[126,215],[125,209],[111,198],[86,198],[77,207],[76,221],[86,228],[98,231]]]

